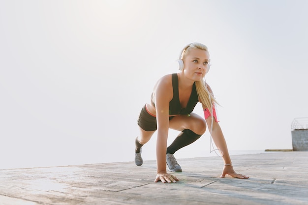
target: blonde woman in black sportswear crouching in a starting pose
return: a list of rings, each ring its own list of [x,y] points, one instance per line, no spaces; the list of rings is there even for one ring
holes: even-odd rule
[[[165,75],[157,81],[152,92],[151,102],[146,103],[138,117],[140,134],[135,140],[135,164],[142,165],[141,147],[151,139],[157,130],[155,182],[178,181],[176,176],[166,172],[166,164],[169,171],[182,172],[182,168],[173,154],[200,138],[205,133],[206,124],[208,124],[213,140],[221,151],[224,161],[220,177],[229,175],[248,178],[248,176],[237,174],[233,170],[228,148],[216,117],[214,107],[216,100],[211,88],[203,80],[210,68],[207,47],[201,43],[191,43],[183,49],[178,61],[181,71]],[[197,102],[202,103],[205,120],[192,113]],[[169,128],[179,130],[181,133],[167,147]]]

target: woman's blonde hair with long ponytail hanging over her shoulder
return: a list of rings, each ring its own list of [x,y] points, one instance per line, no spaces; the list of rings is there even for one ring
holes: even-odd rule
[[[184,59],[191,49],[200,49],[203,51],[208,51],[208,47],[203,45],[202,43],[191,43],[188,44],[181,52],[180,59]],[[212,106],[214,103],[218,104],[216,99],[214,98],[212,90],[202,79],[201,81],[196,81],[196,90],[198,93],[199,100],[203,104],[204,107],[208,108],[212,114]]]

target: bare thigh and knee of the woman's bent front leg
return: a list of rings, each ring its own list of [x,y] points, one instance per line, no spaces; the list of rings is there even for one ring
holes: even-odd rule
[[[169,122],[169,128],[179,131],[189,129],[198,135],[202,135],[206,130],[206,122],[202,117],[191,113],[173,117]]]

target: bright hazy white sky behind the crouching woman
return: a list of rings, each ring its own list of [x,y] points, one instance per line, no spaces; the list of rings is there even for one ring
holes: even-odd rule
[[[0,169],[133,161],[139,112],[191,42],[210,50],[229,150],[292,149],[291,122],[308,117],[307,11],[307,0],[0,0]],[[209,142],[207,131],[176,157],[205,156]]]

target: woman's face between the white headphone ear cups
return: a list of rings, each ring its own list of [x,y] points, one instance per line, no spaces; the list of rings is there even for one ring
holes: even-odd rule
[[[184,72],[187,78],[200,81],[206,74],[209,62],[209,52],[200,49],[191,49],[184,57]]]

